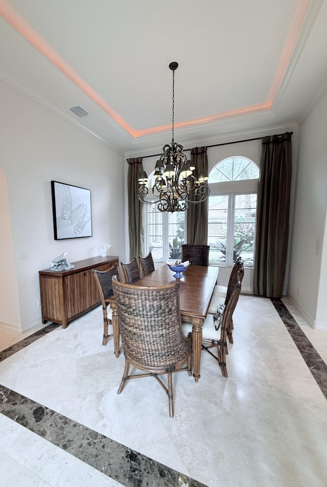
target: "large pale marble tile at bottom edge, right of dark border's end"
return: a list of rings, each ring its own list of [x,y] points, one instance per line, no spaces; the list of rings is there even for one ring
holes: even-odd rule
[[[172,440],[191,476],[209,487],[301,487],[235,410],[221,411]]]

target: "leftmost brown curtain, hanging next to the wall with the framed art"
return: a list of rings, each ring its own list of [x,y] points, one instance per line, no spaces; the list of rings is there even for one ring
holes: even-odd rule
[[[129,258],[138,256],[143,252],[143,203],[138,198],[138,174],[143,171],[142,158],[127,159],[128,175],[128,234]]]

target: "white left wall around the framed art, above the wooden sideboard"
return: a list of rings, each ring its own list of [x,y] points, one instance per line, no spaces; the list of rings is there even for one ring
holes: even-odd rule
[[[126,258],[124,163],[121,154],[0,83],[0,166],[8,185],[13,272],[24,331],[40,322],[38,271],[49,268],[54,257],[67,252],[69,261],[82,260],[97,255],[95,246],[108,242],[111,255]],[[54,240],[51,180],[91,190],[92,237]],[[27,259],[20,259],[21,251],[28,252]],[[0,321],[2,315],[8,316],[3,292]]]

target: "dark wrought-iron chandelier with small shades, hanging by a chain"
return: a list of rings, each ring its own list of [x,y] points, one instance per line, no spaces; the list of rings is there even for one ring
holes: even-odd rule
[[[185,156],[183,146],[174,141],[175,117],[175,70],[177,62],[171,62],[173,72],[173,109],[172,109],[172,143],[162,148],[160,159],[156,162],[153,175],[152,194],[156,200],[150,201],[147,173],[142,171],[138,176],[138,197],[146,204],[156,204],[159,211],[185,211],[189,203],[200,203],[208,198],[207,173],[196,175],[195,166]]]

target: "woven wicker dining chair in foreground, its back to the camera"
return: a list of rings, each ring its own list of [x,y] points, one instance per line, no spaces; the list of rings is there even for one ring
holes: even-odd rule
[[[173,417],[172,373],[192,375],[192,337],[186,338],[181,328],[179,283],[141,287],[113,278],[112,285],[125,356],[118,394],[129,379],[153,376],[168,394]],[[129,375],[131,365],[145,373]],[[158,377],[162,374],[168,375],[168,388]]]

